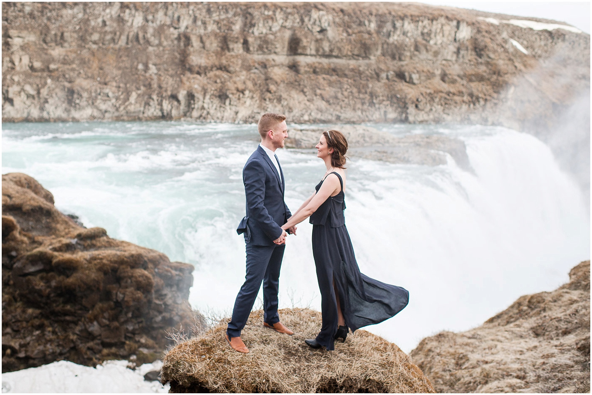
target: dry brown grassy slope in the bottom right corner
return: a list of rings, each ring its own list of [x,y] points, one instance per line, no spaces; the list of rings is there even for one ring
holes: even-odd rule
[[[590,261],[478,328],[423,339],[411,357],[438,392],[589,393]]]

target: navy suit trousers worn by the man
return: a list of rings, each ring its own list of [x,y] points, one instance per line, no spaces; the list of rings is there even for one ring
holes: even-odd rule
[[[249,314],[257,299],[263,281],[263,321],[273,325],[279,322],[278,289],[279,269],[286,246],[246,244],[247,274],[243,286],[234,302],[232,319],[226,333],[229,338],[240,336],[240,331],[249,319]]]

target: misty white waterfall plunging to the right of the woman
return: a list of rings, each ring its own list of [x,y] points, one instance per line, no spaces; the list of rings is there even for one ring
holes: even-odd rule
[[[554,289],[589,256],[580,191],[548,148],[504,130],[466,144],[475,174],[449,163],[397,177],[368,163],[381,181],[350,193],[346,221],[361,270],[411,294],[400,315],[371,331],[393,339],[410,329],[406,350],[428,329],[468,329],[521,294]],[[376,229],[388,230],[377,237]]]

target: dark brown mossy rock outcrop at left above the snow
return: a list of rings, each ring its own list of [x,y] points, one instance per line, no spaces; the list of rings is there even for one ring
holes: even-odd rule
[[[2,176],[2,372],[57,360],[152,362],[191,326],[193,267],[86,229],[21,173]]]

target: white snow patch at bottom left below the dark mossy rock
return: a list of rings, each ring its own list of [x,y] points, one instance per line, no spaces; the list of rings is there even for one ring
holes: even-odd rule
[[[2,393],[168,393],[169,384],[144,381],[144,374],[160,370],[161,361],[136,370],[128,361],[105,361],[96,368],[57,361],[37,368],[2,373]]]

